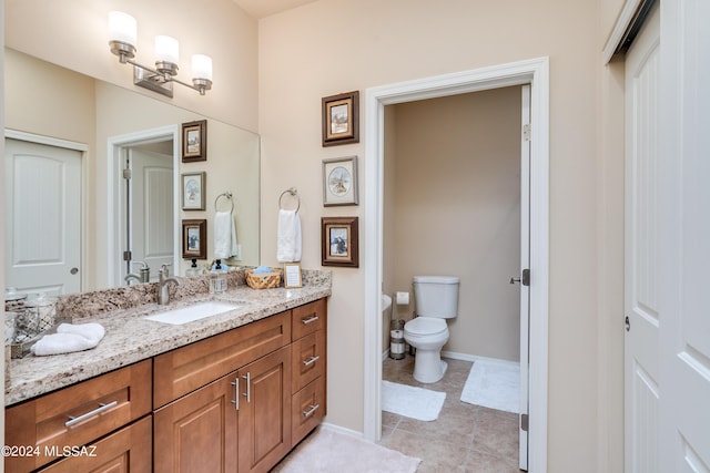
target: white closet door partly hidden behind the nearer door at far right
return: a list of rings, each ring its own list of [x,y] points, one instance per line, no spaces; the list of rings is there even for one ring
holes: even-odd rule
[[[659,12],[626,59],[625,471],[658,472]],[[670,471],[670,470],[669,470]]]

